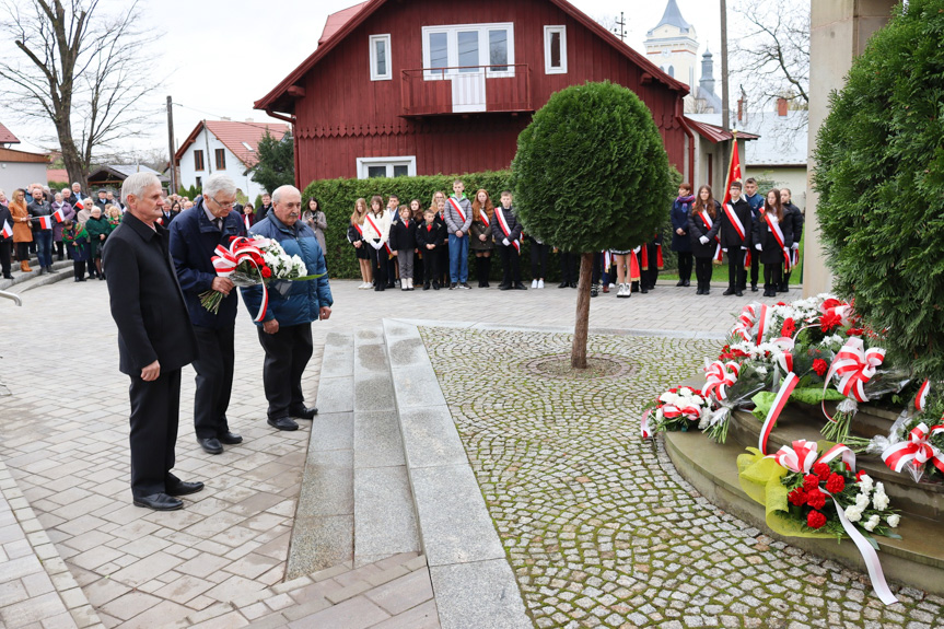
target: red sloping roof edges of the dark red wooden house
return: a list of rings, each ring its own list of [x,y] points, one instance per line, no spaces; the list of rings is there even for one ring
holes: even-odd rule
[[[311,70],[315,63],[322,60],[338,43],[348,34],[357,28],[364,20],[375,13],[387,0],[366,0],[354,7],[338,11],[328,16],[325,23],[325,31],[322,33],[322,38],[318,39],[318,47],[312,53],[307,59],[302,61],[302,65],[295,68],[288,77],[276,85],[268,94],[259,98],[253,104],[256,109],[270,110],[277,102],[285,94],[293,84],[302,80],[302,78]],[[659,66],[630,48],[619,37],[601,26],[601,24],[590,18],[586,13],[568,2],[567,0],[548,0],[556,4],[561,11],[583,24],[584,27],[596,34],[597,37],[604,39],[613,46],[617,51],[622,54],[627,59],[642,68],[651,74],[656,81],[668,85],[673,90],[678,90],[683,94],[689,92],[688,85],[669,77],[659,69]],[[331,28],[328,32],[328,28]],[[322,44],[324,43],[324,44]]]

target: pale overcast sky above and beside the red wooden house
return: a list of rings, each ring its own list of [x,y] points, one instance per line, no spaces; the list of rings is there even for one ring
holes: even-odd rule
[[[594,19],[616,18],[623,11],[627,43],[640,51],[645,32],[655,26],[666,5],[666,0],[571,2]],[[695,25],[700,51],[704,51],[707,43],[713,53],[719,53],[718,2],[677,2],[683,16]],[[167,95],[179,105],[174,107],[177,147],[203,118],[269,119],[253,109],[253,102],[265,96],[315,50],[328,14],[356,3],[356,0],[142,0],[147,19],[165,33],[155,45],[153,58],[155,77],[167,78],[151,97],[153,132],[149,138],[129,140],[128,148],[167,147]],[[102,7],[109,11],[125,5],[127,2],[123,0],[102,0]],[[734,19],[730,12],[729,20]],[[736,32],[736,24],[731,27]],[[8,54],[5,48],[0,51]],[[720,68],[715,70],[715,77],[719,74]],[[14,135],[33,144],[42,142],[44,132],[53,131],[51,126],[26,128],[2,109],[0,116],[0,121]]]

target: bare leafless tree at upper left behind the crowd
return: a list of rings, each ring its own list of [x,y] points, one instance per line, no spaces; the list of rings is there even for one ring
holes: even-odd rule
[[[143,50],[160,33],[141,13],[138,0],[115,15],[98,0],[0,0],[0,37],[19,53],[0,50],[0,104],[53,123],[71,180],[86,183],[98,148],[144,130],[159,82]]]

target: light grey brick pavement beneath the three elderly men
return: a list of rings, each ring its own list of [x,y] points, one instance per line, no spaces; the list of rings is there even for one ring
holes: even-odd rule
[[[574,291],[555,288],[374,293],[356,287],[333,282],[334,315],[314,326],[315,356],[303,380],[310,401],[329,331],[387,316],[571,326],[575,306]],[[176,469],[207,489],[186,497],[183,511],[159,514],[130,504],[128,381],[117,371],[104,282],[67,280],[23,298],[20,308],[0,304],[0,373],[13,394],[0,397],[0,459],[101,620],[109,627],[247,621],[233,602],[263,599],[284,576],[311,424],[281,433],[263,421],[263,352],[245,311],[229,413],[245,443],[218,456],[199,449],[194,372],[185,368]],[[630,300],[611,293],[592,300],[591,325],[721,334],[742,303],[661,286]]]

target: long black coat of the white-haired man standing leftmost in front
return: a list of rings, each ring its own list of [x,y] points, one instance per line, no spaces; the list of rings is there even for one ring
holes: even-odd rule
[[[118,326],[118,369],[140,376],[160,361],[161,373],[180,369],[197,357],[197,339],[177,283],[170,234],[132,213],[108,237],[103,264],[112,317]]]

